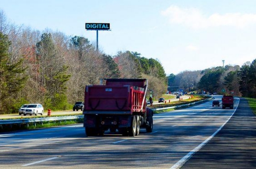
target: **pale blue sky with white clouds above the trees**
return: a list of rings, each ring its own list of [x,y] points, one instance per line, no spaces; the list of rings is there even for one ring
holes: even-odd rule
[[[100,50],[136,51],[167,75],[256,59],[256,0],[0,0],[0,9],[16,25],[91,43],[96,31],[85,23],[110,23],[99,31]]]

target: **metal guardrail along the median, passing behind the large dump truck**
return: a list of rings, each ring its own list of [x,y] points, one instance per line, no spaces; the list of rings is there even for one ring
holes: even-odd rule
[[[186,106],[191,106],[194,104],[198,104],[204,101],[210,101],[212,99],[208,98],[206,100],[197,101],[194,103],[183,104],[179,106],[167,107],[167,108],[154,108],[153,111],[158,110],[167,110],[172,108],[181,108]],[[75,120],[75,119],[83,119],[83,115],[73,115],[73,116],[61,116],[61,117],[45,117],[45,118],[30,118],[30,119],[12,119],[12,120],[0,120],[0,125],[10,125],[10,124],[24,124],[24,123],[35,123],[35,122],[50,122],[50,121],[62,121],[62,120]]]

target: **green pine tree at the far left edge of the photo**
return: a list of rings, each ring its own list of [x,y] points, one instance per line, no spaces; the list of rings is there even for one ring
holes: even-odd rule
[[[8,36],[0,32],[0,114],[16,111],[15,98],[26,83],[26,68],[23,68],[23,59],[10,61],[8,52],[11,43]]]

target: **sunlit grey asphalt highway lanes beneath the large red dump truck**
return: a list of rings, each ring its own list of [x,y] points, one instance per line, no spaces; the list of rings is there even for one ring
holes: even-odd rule
[[[233,119],[239,101],[236,98],[234,109],[212,107],[209,101],[154,115],[153,132],[141,129],[137,137],[109,131],[103,137],[87,137],[82,124],[3,133],[0,169],[190,168],[193,157]]]

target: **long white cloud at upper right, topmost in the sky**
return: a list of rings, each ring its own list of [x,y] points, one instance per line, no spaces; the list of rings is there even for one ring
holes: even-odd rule
[[[256,14],[211,14],[207,17],[195,8],[181,9],[177,6],[170,6],[161,14],[169,18],[169,22],[173,24],[181,24],[193,29],[203,29],[208,27],[218,27],[223,25],[234,26],[237,28],[248,27],[256,24]]]

